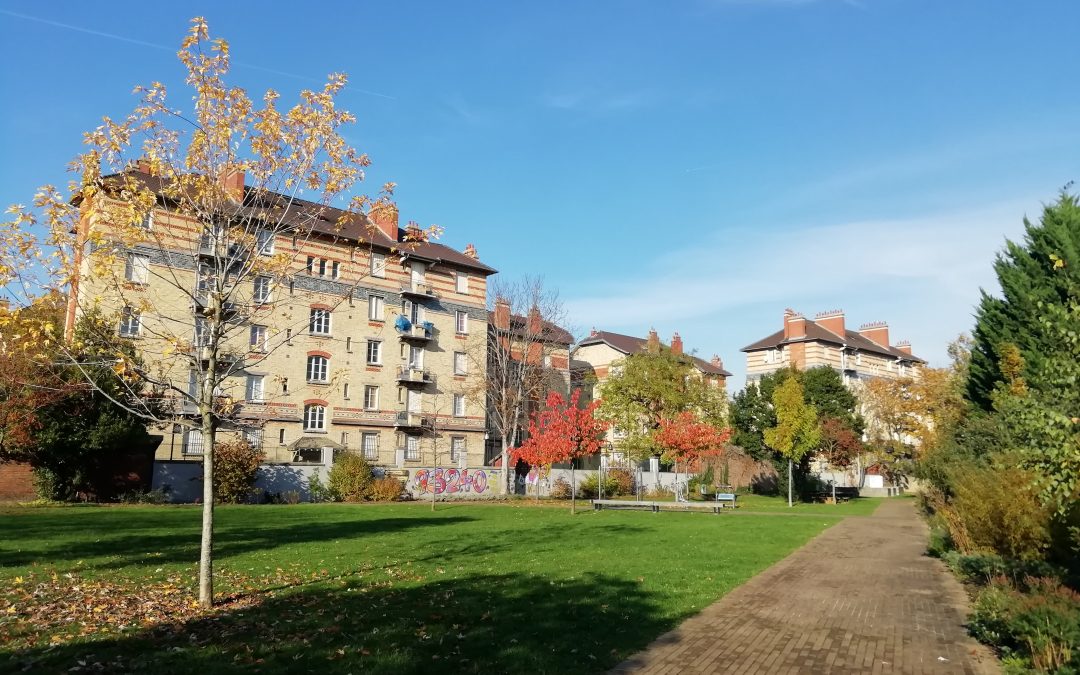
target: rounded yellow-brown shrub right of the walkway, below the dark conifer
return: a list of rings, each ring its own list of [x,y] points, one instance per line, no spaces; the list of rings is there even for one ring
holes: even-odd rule
[[[949,529],[956,542],[967,540],[974,551],[1026,559],[1041,557],[1049,546],[1051,514],[1039,502],[1030,476],[1023,470],[972,469],[957,476],[954,491],[950,505],[955,517]],[[964,531],[958,532],[960,528]]]

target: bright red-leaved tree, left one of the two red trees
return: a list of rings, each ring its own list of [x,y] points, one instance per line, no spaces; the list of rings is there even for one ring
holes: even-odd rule
[[[572,462],[599,451],[604,432],[607,431],[607,422],[596,419],[594,415],[599,401],[581,407],[580,393],[575,391],[569,401],[558,392],[548,394],[544,408],[534,413],[529,419],[528,438],[512,453],[515,460],[519,459],[531,467],[571,462],[570,511],[573,513],[577,512],[575,496],[578,485]]]

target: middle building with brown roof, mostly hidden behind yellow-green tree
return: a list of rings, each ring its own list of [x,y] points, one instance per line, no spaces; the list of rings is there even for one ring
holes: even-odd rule
[[[664,346],[674,354],[684,354],[689,359],[690,364],[698,374],[712,387],[719,390],[726,389],[727,378],[731,373],[724,369],[724,362],[718,355],[713,355],[711,361],[699,359],[691,354],[685,354],[683,349],[683,338],[676,333],[672,336],[671,346]],[[611,375],[616,375],[622,367],[622,362],[632,354],[645,351],[657,351],[661,348],[660,337],[656,330],[649,330],[646,338],[610,333],[608,330],[593,330],[588,338],[582,340],[573,352],[576,369],[584,372],[585,379],[595,381],[594,391],[599,391],[604,382]],[[580,368],[578,367],[580,365]],[[578,374],[575,374],[576,377]],[[589,377],[591,376],[591,377]],[[625,437],[623,430],[612,427],[607,432],[606,445],[610,448],[611,457],[615,461],[623,459],[623,454],[619,449],[619,444]]]

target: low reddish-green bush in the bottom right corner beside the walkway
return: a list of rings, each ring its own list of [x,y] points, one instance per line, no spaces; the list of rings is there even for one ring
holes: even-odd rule
[[[969,630],[1011,661],[1041,672],[1080,669],[1080,593],[1056,579],[1028,579],[1024,593],[998,578],[975,598]]]

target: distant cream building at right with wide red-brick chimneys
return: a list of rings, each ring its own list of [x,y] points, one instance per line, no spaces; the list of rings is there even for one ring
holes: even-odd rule
[[[916,376],[926,363],[912,354],[908,342],[890,345],[889,326],[867,323],[849,330],[841,310],[821,312],[813,321],[787,309],[784,326],[772,335],[747,345],[746,380],[794,366],[806,369],[828,366],[838,370],[845,382],[853,384],[872,377]]]

